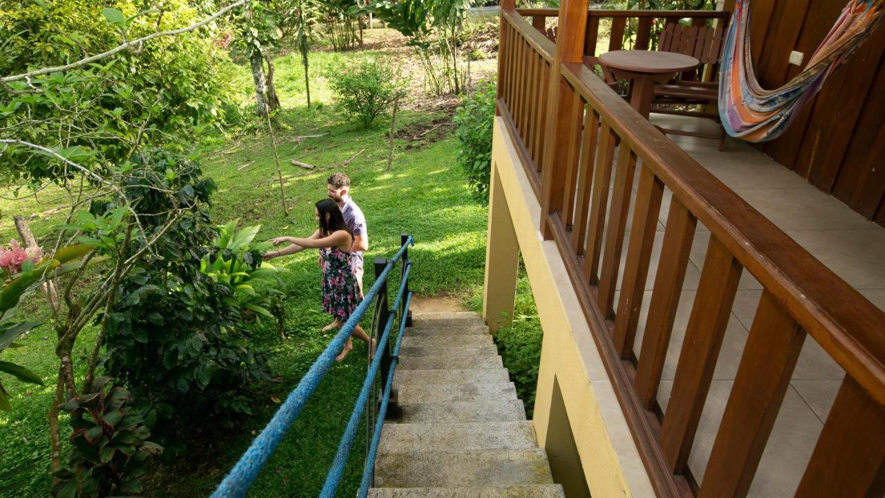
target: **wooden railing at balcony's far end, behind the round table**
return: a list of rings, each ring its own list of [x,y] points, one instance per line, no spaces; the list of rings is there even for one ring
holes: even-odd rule
[[[558,10],[519,9],[517,12],[519,15],[531,18],[532,26],[543,35],[549,38],[554,36],[556,23],[548,19],[558,19]],[[654,50],[658,45],[658,36],[666,26],[683,20],[691,27],[715,27],[721,33],[727,27],[728,16],[729,13],[724,11],[588,11],[587,30],[584,35],[584,62],[589,66],[598,65],[599,58],[596,53],[599,51]],[[607,47],[599,45],[601,26],[609,29]],[[721,40],[722,37],[717,36],[716,39]],[[686,40],[686,43],[689,43],[689,40]],[[718,54],[720,48],[717,43],[712,47],[712,51]],[[715,74],[715,66],[706,64],[699,66],[698,75],[712,76]]]

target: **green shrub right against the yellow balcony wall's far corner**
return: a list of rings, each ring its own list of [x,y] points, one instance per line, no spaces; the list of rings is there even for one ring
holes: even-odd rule
[[[473,197],[482,204],[489,203],[495,92],[495,83],[480,84],[455,110],[458,165],[464,168]]]

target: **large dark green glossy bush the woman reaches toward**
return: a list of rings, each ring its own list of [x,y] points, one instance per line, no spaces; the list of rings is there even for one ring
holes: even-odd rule
[[[142,217],[149,222],[145,230],[161,228],[161,214],[170,209],[182,214],[154,253],[121,281],[104,339],[104,368],[132,390],[168,460],[181,454],[181,435],[196,417],[250,413],[254,385],[271,376],[266,352],[250,346],[258,315],[243,305],[250,301],[236,287],[242,281],[201,271],[207,254],[214,254],[210,263],[234,257],[212,247],[217,231],[206,208],[215,184],[192,160],[161,152],[137,160],[127,195],[140,213],[157,214],[157,227]],[[112,202],[96,210],[115,207]],[[260,255],[238,244],[236,258],[252,261],[246,266],[254,272]]]

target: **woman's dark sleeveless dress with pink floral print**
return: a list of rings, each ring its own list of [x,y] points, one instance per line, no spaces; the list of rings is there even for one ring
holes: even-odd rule
[[[363,300],[350,266],[350,253],[337,247],[321,247],[319,255],[323,260],[323,312],[344,322]]]

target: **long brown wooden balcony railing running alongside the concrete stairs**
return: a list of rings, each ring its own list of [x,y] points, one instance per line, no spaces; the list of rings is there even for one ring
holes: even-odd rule
[[[515,10],[501,15],[498,112],[542,204],[539,228],[558,245],[656,493],[747,494],[809,335],[846,376],[797,495],[881,496],[885,314],[644,120],[569,42],[554,46]],[[567,29],[580,32],[581,22]],[[564,46],[571,61],[556,53]],[[673,198],[650,276],[666,190]],[[663,412],[658,385],[697,222],[711,231],[710,243]],[[689,454],[744,271],[764,291],[704,480],[696,483]],[[648,278],[654,285],[645,302]],[[636,357],[643,307],[649,311]]]

